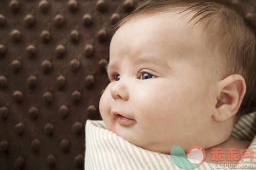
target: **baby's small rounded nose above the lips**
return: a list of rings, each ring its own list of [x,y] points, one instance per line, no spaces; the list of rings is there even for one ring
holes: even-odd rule
[[[114,100],[122,99],[127,101],[129,99],[126,83],[121,79],[113,83],[110,88],[110,93]]]

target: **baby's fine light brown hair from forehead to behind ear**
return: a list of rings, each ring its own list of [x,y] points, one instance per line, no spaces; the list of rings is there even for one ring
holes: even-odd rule
[[[145,14],[193,12],[188,21],[205,23],[209,43],[218,46],[227,75],[240,74],[246,82],[246,94],[238,114],[254,111],[256,93],[255,25],[231,2],[225,0],[148,0],[117,23],[116,29]],[[220,57],[219,56],[219,57]],[[226,56],[226,57],[223,57]],[[255,101],[254,101],[255,102]],[[237,114],[237,115],[238,115]]]

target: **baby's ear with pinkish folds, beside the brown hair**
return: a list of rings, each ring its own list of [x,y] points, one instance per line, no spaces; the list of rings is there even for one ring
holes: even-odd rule
[[[216,112],[212,117],[218,122],[223,122],[236,115],[245,91],[245,80],[240,75],[230,75],[221,80],[218,84]]]

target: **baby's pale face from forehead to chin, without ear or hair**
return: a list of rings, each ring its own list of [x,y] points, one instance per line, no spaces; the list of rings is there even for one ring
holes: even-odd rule
[[[109,130],[147,150],[169,154],[173,144],[187,151],[214,141],[205,135],[217,76],[201,29],[186,25],[188,19],[145,15],[126,22],[111,41],[111,82],[100,113]]]

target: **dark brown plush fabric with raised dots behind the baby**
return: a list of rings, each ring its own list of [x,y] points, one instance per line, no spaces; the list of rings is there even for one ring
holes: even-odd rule
[[[0,169],[83,169],[113,25],[141,0],[0,1]],[[254,16],[254,1],[240,3]]]

